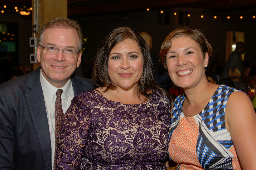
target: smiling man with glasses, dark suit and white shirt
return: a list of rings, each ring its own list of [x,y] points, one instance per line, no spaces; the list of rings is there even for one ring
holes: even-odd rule
[[[40,31],[35,71],[0,85],[0,169],[53,170],[55,101],[65,113],[72,98],[93,88],[71,78],[80,65],[83,37],[77,22],[56,18]]]

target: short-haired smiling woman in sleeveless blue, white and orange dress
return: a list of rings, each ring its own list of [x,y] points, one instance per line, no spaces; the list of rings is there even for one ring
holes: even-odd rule
[[[256,114],[248,96],[207,81],[212,47],[200,30],[179,28],[159,58],[176,86],[169,157],[179,170],[256,169]]]

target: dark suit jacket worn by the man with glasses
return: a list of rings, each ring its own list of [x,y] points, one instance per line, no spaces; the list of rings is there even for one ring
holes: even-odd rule
[[[39,71],[0,85],[0,170],[52,170]],[[90,79],[76,76],[71,81],[74,95],[93,89]]]

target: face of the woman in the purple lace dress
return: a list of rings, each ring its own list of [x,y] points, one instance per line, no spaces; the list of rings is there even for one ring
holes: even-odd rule
[[[143,74],[143,55],[135,40],[127,38],[110,51],[108,75],[117,88],[137,87]]]

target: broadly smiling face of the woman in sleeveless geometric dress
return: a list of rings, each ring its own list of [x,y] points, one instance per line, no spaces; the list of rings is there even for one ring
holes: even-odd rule
[[[203,53],[199,44],[188,36],[174,37],[166,54],[169,75],[176,86],[184,89],[204,81],[204,67],[208,65],[208,53]]]

